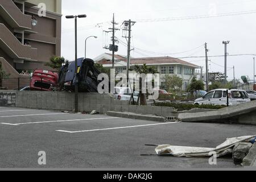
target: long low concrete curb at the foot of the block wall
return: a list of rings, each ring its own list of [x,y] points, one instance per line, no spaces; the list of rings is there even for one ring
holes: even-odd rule
[[[115,111],[108,111],[107,115],[112,116],[112,117],[120,117],[120,118],[166,122],[166,119],[164,117],[159,117],[156,115],[142,115],[142,114],[135,114],[135,113],[128,113],[128,112],[115,112]]]

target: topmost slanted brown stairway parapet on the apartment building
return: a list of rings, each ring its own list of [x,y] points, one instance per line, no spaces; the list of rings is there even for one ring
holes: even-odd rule
[[[13,28],[31,30],[31,16],[23,14],[11,0],[1,0],[0,14]]]

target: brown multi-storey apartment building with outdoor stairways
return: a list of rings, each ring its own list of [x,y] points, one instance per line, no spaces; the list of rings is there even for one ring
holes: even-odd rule
[[[61,52],[61,0],[0,1],[0,61],[10,77]]]

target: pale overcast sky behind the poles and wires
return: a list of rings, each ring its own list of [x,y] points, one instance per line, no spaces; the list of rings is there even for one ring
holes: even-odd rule
[[[110,43],[110,34],[107,38],[109,41],[106,42],[102,31],[108,31],[113,13],[115,13],[116,22],[119,23],[118,28],[122,26],[123,20],[137,21],[132,27],[131,46],[135,47],[135,51],[131,52],[133,57],[204,56],[205,50],[202,45],[205,42],[208,43],[209,56],[224,55],[223,40],[230,41],[228,45],[229,55],[256,54],[256,13],[220,16],[220,14],[237,14],[241,11],[242,13],[245,11],[256,12],[255,0],[63,0],[62,6],[61,55],[68,60],[73,60],[75,57],[74,20],[65,19],[65,15],[76,14],[87,15],[87,18],[78,20],[79,57],[84,57],[85,38],[91,35],[98,38],[88,39],[87,57],[93,59],[101,53],[111,53],[102,48],[106,43]],[[216,15],[217,17],[173,19],[195,15]],[[163,21],[165,18],[169,19]],[[149,22],[143,22],[142,19],[149,19]],[[160,21],[156,22],[156,19],[160,19]],[[96,24],[98,23],[99,26],[97,27]],[[116,36],[126,42],[126,39],[122,38],[122,31],[117,31]],[[195,49],[196,47],[199,48]],[[118,54],[127,55],[127,48],[119,44]],[[233,69],[231,69],[233,65],[235,66],[236,78],[246,75],[253,79],[253,57],[229,56],[228,79],[233,79]],[[212,60],[212,63],[209,63],[210,72],[224,72],[224,57],[210,57],[209,59]],[[186,58],[183,60],[205,68],[204,58]]]

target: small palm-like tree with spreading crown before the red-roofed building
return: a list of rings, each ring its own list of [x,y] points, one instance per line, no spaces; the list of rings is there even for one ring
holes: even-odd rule
[[[133,69],[131,69],[131,71],[135,71],[137,72],[138,74],[148,74],[148,73],[151,73],[151,74],[156,74],[158,73],[158,71],[156,71],[156,68],[155,67],[148,67],[146,64],[143,64],[142,66],[139,66],[139,65],[135,65]],[[142,78],[141,82],[145,82],[146,80],[144,80],[145,78]],[[140,89],[141,86],[140,86]],[[141,98],[141,105],[147,105],[147,96],[146,96],[146,93],[139,93],[139,98]]]

